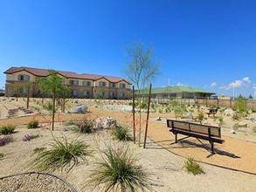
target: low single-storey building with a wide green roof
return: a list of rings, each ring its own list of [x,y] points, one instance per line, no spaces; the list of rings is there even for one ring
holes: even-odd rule
[[[136,91],[135,93],[138,93]],[[201,99],[209,98],[212,94],[204,89],[190,86],[165,86],[152,88],[151,98],[180,98],[180,99]],[[149,89],[142,90],[142,97],[149,95]]]

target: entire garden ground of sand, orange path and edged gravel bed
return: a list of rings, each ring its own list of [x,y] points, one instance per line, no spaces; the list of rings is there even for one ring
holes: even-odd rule
[[[44,103],[50,101],[51,99],[45,99]],[[61,113],[57,108],[52,131],[52,116],[42,105],[42,99],[30,99],[30,107],[26,109],[25,98],[16,100],[11,97],[0,97],[0,126],[15,126],[15,131],[10,136],[11,141],[0,145],[0,154],[3,154],[0,158],[0,191],[102,190],[102,184],[95,187],[89,182],[90,175],[96,168],[95,162],[101,158],[100,151],[106,150],[107,146],[116,149],[128,147],[135,156],[138,156],[134,163],[148,173],[149,186],[153,191],[255,191],[256,113],[250,112],[246,117],[234,120],[232,115],[227,113],[228,110],[219,109],[214,118],[206,114],[209,107],[187,106],[190,115],[179,117],[178,120],[195,121],[198,113],[196,107],[200,107],[200,111],[204,113],[203,124],[221,126],[222,139],[225,142],[215,144],[216,154],[211,154],[208,150],[208,141],[203,141],[202,145],[191,137],[175,143],[175,136],[166,125],[166,119],[176,119],[172,110],[168,113],[164,110],[159,112],[157,109],[151,111],[145,148],[143,141],[147,113],[142,113],[140,147],[133,141],[114,140],[111,134],[112,127],[96,129],[92,134],[81,134],[66,123],[111,118],[116,120],[117,124],[129,127],[132,135],[133,113],[129,104],[129,100],[68,99],[65,113]],[[86,106],[86,113],[74,113],[73,107],[81,105]],[[139,113],[136,112],[136,136],[138,118]],[[31,120],[38,120],[37,128],[27,128]],[[34,139],[24,140],[27,134],[35,136]],[[62,138],[64,135],[69,141],[79,139],[86,142],[93,153],[86,157],[86,161],[79,159],[78,164],[70,172],[58,169],[51,173],[47,172],[49,175],[40,175],[37,169],[29,167],[37,155],[35,148],[48,148],[53,138]],[[0,135],[1,137],[3,135]],[[178,135],[178,138],[182,137],[183,135]],[[184,161],[188,158],[197,161],[204,173],[188,173],[184,168]],[[29,176],[20,175],[28,172],[32,173]]]

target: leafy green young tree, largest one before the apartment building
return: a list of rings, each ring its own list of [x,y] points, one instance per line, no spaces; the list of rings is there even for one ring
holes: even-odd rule
[[[54,129],[55,100],[66,89],[66,79],[59,76],[58,72],[49,70],[49,76],[38,79],[39,87],[43,87],[45,92],[52,94],[52,131]]]

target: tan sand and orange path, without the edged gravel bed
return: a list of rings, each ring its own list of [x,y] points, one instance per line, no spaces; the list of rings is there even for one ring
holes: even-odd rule
[[[0,153],[4,154],[0,161],[0,177],[14,175],[26,171],[26,165],[31,161],[33,149],[35,147],[47,147],[47,143],[52,141],[51,116],[44,110],[35,110],[38,108],[37,99],[31,99],[31,109],[33,113],[24,113],[19,110],[16,115],[8,118],[8,109],[25,107],[25,99],[0,98],[0,126],[6,124],[16,125],[17,132],[14,134],[15,140],[0,147]],[[94,107],[93,100],[80,99],[79,103],[88,106],[88,113],[56,113],[56,125],[52,132],[55,137],[65,134],[68,138],[80,137],[86,141],[94,150],[97,147],[104,148],[106,143],[111,145],[129,146],[135,154],[138,154],[140,160],[137,164],[149,172],[152,179],[151,186],[155,191],[255,191],[256,186],[256,135],[252,133],[252,127],[255,122],[252,120],[240,120],[246,123],[247,127],[242,128],[236,134],[230,134],[232,124],[231,117],[224,117],[225,126],[222,127],[222,135],[225,143],[215,144],[217,154],[211,155],[206,148],[197,140],[189,138],[179,143],[174,143],[174,135],[166,127],[166,118],[173,119],[173,113],[150,113],[149,131],[146,148],[138,147],[132,141],[120,143],[114,141],[108,130],[103,130],[93,135],[78,135],[65,125],[66,120],[76,120],[94,117],[113,117],[118,123],[131,126],[132,113],[124,111],[113,111],[102,109],[100,104]],[[108,103],[107,103],[108,104]],[[121,105],[122,103],[115,103]],[[69,102],[68,107],[77,105]],[[40,112],[40,113],[39,113]],[[217,113],[217,116],[220,115]],[[252,114],[253,115],[253,114]],[[135,114],[138,119],[138,113]],[[206,115],[207,116],[207,115]],[[205,116],[205,117],[206,117]],[[161,117],[161,120],[156,118]],[[40,127],[36,129],[27,129],[26,124],[37,118],[40,121]],[[142,133],[145,129],[146,113],[142,113]],[[218,125],[213,118],[208,118],[207,123]],[[136,126],[138,128],[138,126]],[[40,135],[38,139],[31,141],[22,141],[24,134]],[[182,136],[180,136],[182,137]],[[179,138],[180,138],[179,137]],[[142,141],[144,140],[142,134]],[[203,141],[209,146],[207,141]],[[97,150],[96,150],[97,151]],[[99,158],[98,153],[94,157],[88,157],[86,163],[80,164],[69,174],[54,172],[65,178],[78,191],[92,191],[85,188],[86,179],[93,171],[93,162]],[[183,168],[186,158],[192,157],[204,169],[203,175],[191,175]],[[99,189],[94,189],[98,191]]]

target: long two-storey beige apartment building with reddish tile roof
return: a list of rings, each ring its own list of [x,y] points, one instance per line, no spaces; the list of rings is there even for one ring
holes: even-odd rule
[[[101,98],[101,99],[130,99],[131,84],[127,79],[117,77],[93,75],[93,74],[77,74],[75,72],[58,72],[59,76],[66,79],[66,84],[70,87],[71,97],[73,98]],[[47,77],[48,70],[31,68],[31,67],[10,67],[3,72],[6,74],[5,96],[26,95],[24,85],[30,81],[31,97],[40,95],[38,89],[37,78]],[[15,85],[18,85],[18,93]]]

